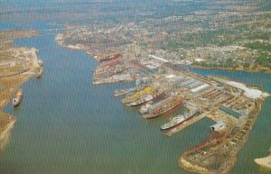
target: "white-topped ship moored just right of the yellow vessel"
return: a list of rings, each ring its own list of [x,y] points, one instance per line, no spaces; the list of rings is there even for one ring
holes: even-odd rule
[[[134,102],[128,104],[128,106],[136,106],[136,105],[143,105],[148,101],[158,99],[160,96],[163,96],[164,91],[163,90],[154,90],[151,94],[147,94],[144,96],[141,96],[139,99],[135,100]]]

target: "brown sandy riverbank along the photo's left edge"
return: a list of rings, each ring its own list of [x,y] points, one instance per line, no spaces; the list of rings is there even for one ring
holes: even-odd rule
[[[10,33],[18,34],[19,36],[12,38],[14,40],[18,40],[25,37],[33,37],[37,35],[36,31],[26,31],[23,32],[23,35],[20,31],[6,31],[2,32],[2,34],[6,34],[5,40],[10,40],[9,37]],[[4,40],[4,42],[5,42]],[[13,42],[6,45],[6,48],[3,50],[10,50],[9,56],[5,58],[5,60],[9,61],[8,65],[2,64],[0,66],[1,68],[1,78],[0,78],[0,84],[1,84],[1,90],[0,90],[0,144],[5,139],[5,136],[7,133],[10,133],[12,128],[14,127],[14,124],[16,122],[16,117],[11,114],[5,113],[3,110],[6,105],[10,103],[13,96],[18,91],[19,87],[22,86],[23,83],[27,82],[30,78],[33,78],[37,74],[37,71],[42,68],[41,60],[37,57],[37,50],[34,48],[27,48],[27,47],[18,47],[14,46]],[[16,55],[14,56],[14,53]],[[22,63],[22,57],[23,57],[23,63]],[[17,64],[18,68],[13,69],[13,64]],[[20,71],[20,69],[23,68],[23,71]],[[14,71],[11,71],[14,70]],[[19,70],[19,71],[18,71]],[[13,72],[14,74],[10,75],[9,71]],[[6,73],[7,72],[7,73]]]

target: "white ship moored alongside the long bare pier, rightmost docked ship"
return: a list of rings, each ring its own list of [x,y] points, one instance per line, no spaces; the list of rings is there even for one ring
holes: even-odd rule
[[[175,117],[173,117],[173,119],[169,123],[162,125],[161,129],[168,130],[168,129],[171,129],[179,124],[182,124],[183,122],[192,118],[197,112],[198,112],[198,109],[192,109],[192,111],[187,114],[175,116]]]

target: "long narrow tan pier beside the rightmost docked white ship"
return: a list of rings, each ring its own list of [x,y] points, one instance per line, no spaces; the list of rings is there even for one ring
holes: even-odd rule
[[[180,131],[182,131],[182,129],[195,124],[196,122],[199,122],[201,119],[203,119],[204,117],[206,117],[208,114],[210,114],[210,112],[204,113],[204,114],[200,114],[198,116],[193,116],[192,119],[183,122],[182,124],[178,125],[177,127],[174,127],[173,129],[169,130],[169,131],[165,131],[163,134],[165,136],[173,136],[173,134],[178,133]]]

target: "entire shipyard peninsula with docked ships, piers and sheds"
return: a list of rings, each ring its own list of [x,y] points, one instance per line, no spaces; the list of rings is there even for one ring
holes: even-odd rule
[[[135,26],[133,23],[127,25]],[[88,31],[87,28],[78,30]],[[117,32],[126,32],[122,30],[116,29]],[[134,30],[145,33],[136,27]],[[66,38],[74,33],[77,33],[74,28],[66,30],[58,34],[56,41],[61,46],[70,47]],[[95,34],[89,33],[92,37],[96,37]],[[117,88],[114,96],[120,97],[123,105],[138,109],[140,117],[147,122],[158,117],[166,118],[167,122],[159,128],[165,137],[180,133],[203,119],[215,123],[206,127],[210,130],[206,140],[181,154],[178,165],[182,169],[194,173],[229,173],[237,162],[238,151],[248,141],[262,102],[269,94],[227,78],[201,76],[164,55],[163,50],[144,48],[136,41],[118,47],[91,44],[76,44],[72,48],[86,50],[98,61],[92,83],[135,81],[134,87]],[[182,114],[178,114],[179,111]]]

